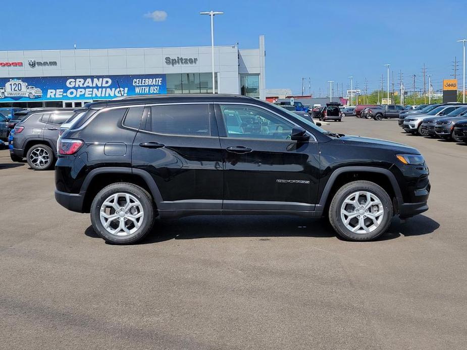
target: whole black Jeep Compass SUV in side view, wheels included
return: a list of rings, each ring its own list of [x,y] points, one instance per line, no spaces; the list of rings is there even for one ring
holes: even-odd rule
[[[329,216],[367,241],[393,215],[428,209],[428,168],[411,147],[333,134],[237,95],[161,95],[87,104],[59,141],[57,201],[90,212],[113,243],[154,218],[193,214]]]

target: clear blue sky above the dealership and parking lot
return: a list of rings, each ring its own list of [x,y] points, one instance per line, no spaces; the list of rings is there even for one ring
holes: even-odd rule
[[[320,89],[328,94],[328,80],[345,89],[350,75],[354,86],[364,88],[367,78],[373,90],[386,77],[386,63],[396,89],[399,70],[407,89],[413,74],[422,88],[424,63],[439,89],[452,74],[454,56],[462,60],[456,40],[467,37],[465,0],[42,0],[2,4],[0,50],[210,45],[209,18],[198,12],[211,9],[225,12],[215,18],[216,44],[256,48],[265,35],[267,88],[297,94],[302,77],[310,77],[315,95]],[[144,16],[156,10],[167,17]],[[461,63],[458,68],[461,80]]]

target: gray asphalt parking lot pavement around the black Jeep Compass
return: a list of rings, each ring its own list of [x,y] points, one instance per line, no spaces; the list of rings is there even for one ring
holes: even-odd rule
[[[326,220],[199,216],[113,246],[56,203],[53,171],[0,151],[0,348],[465,348],[467,146],[395,120],[325,128],[418,148],[430,210],[377,242]]]

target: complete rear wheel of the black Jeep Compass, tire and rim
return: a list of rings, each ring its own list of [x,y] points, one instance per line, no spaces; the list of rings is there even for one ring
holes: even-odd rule
[[[129,183],[109,185],[97,193],[91,204],[91,223],[107,242],[130,244],[142,240],[154,219],[151,196]]]

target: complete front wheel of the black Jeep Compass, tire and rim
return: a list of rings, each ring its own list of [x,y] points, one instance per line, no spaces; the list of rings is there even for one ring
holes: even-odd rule
[[[370,181],[342,186],[329,207],[329,221],[337,234],[351,241],[369,241],[386,232],[393,215],[387,192]]]

